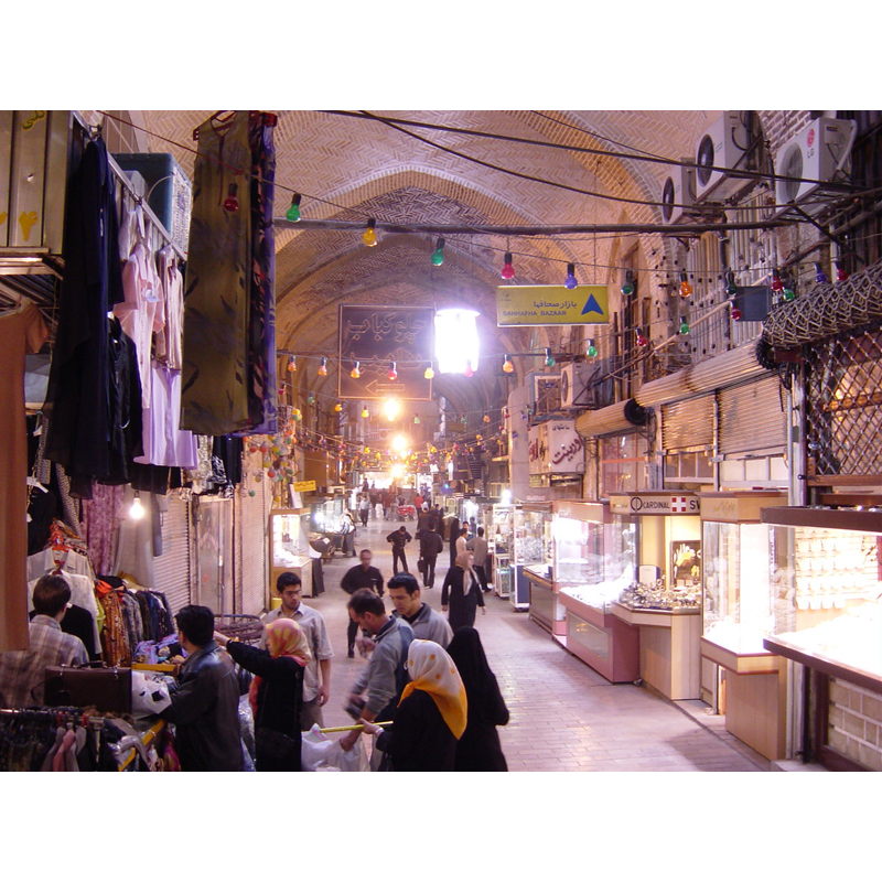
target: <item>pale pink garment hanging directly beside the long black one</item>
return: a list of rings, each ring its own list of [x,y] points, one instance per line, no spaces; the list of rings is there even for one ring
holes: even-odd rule
[[[143,243],[135,246],[131,257],[122,267],[122,290],[126,300],[114,306],[114,315],[119,319],[122,330],[135,343],[138,374],[141,377],[141,397],[147,410],[150,407],[153,332],[165,325],[165,313],[160,302],[162,290],[159,276]]]

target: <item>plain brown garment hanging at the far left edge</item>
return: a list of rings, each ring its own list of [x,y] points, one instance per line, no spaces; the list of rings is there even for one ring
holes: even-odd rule
[[[24,356],[47,335],[40,310],[28,300],[0,314],[0,652],[28,648],[28,609],[22,585],[28,559],[28,435]]]

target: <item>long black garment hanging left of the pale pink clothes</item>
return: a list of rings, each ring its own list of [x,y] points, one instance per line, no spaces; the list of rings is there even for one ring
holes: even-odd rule
[[[46,458],[74,480],[110,477],[107,313],[125,299],[118,237],[116,183],[97,138],[83,151],[65,203],[64,279],[45,406]]]

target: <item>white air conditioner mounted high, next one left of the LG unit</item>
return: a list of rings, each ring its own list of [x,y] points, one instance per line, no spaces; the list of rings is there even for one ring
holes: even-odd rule
[[[733,178],[728,171],[746,168],[751,132],[743,118],[743,110],[724,110],[698,139],[696,201],[712,196],[721,202],[753,184],[752,180]]]

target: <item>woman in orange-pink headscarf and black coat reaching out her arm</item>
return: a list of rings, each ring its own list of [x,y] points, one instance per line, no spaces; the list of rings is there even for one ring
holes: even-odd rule
[[[248,700],[255,717],[257,771],[300,772],[303,671],[311,657],[300,625],[291,619],[270,622],[266,649],[229,641],[222,634],[215,634],[215,639],[255,675]]]

